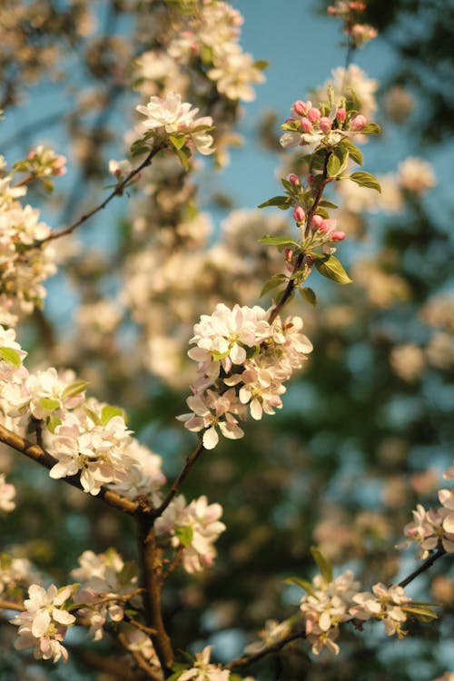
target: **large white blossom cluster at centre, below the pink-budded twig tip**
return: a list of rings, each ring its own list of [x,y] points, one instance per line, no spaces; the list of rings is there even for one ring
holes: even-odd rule
[[[239,420],[246,418],[246,405],[252,419],[280,409],[284,381],[312,350],[300,332],[300,317],[270,318],[271,311],[259,306],[231,310],[220,303],[194,326],[195,347],[188,355],[198,363],[198,379],[186,400],[192,412],[179,419],[189,430],[204,430],[205,449],[217,445],[217,428],[226,438],[242,438]]]

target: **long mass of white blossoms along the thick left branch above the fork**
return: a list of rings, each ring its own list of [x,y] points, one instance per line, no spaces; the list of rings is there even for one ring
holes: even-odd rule
[[[122,410],[86,398],[88,384],[73,371],[51,367],[29,374],[25,355],[15,331],[0,327],[0,408],[19,428],[31,418],[40,421],[45,448],[55,459],[51,478],[79,475],[90,494],[111,485],[129,498],[159,502],[161,457],[133,439]],[[9,486],[5,503],[6,493],[12,493]]]

